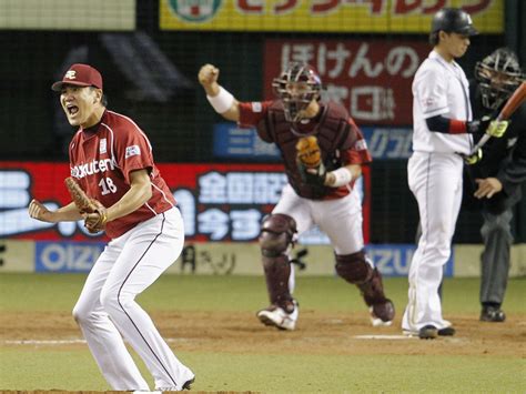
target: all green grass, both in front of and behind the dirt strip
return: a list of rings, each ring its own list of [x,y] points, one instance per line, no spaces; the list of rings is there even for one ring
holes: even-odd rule
[[[85,275],[0,274],[0,313],[69,313]],[[398,305],[407,300],[406,279],[385,279]],[[477,279],[446,280],[444,311],[478,314]],[[363,311],[356,290],[335,277],[300,277],[296,296],[314,311]],[[509,281],[505,310],[524,314],[526,280]],[[266,304],[263,277],[164,275],[140,296],[148,311],[246,311]],[[80,333],[79,333],[80,335]],[[254,334],[255,335],[255,334]],[[431,345],[431,344],[429,344]],[[526,392],[524,342],[516,357],[474,355],[331,355],[176,352],[198,375],[200,391],[266,393],[515,393]],[[142,363],[138,363],[149,376]],[[44,378],[42,377],[44,376]],[[0,344],[0,390],[110,390],[87,346],[64,348]]]

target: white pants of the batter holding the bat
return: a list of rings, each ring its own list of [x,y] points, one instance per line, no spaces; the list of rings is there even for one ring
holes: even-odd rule
[[[422,236],[409,266],[404,331],[416,333],[425,325],[438,330],[451,325],[442,317],[438,286],[461,209],[463,165],[455,153],[414,152],[408,161],[408,183],[418,202]]]

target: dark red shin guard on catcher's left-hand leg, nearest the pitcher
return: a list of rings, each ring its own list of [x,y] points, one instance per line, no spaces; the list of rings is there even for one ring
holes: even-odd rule
[[[294,309],[289,290],[291,262],[286,253],[292,245],[295,232],[296,223],[294,219],[284,214],[271,214],[264,219],[260,235],[270,301],[286,312]]]

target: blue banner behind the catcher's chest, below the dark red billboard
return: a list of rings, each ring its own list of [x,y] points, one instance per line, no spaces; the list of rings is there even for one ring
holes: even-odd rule
[[[411,128],[361,128],[373,159],[406,160],[411,156],[413,131]],[[273,143],[262,141],[255,129],[242,129],[235,123],[216,123],[214,127],[214,156],[280,161],[280,151]]]

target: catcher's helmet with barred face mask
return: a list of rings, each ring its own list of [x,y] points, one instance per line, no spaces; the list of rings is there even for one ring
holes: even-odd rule
[[[314,69],[303,62],[289,63],[272,82],[275,94],[283,101],[285,120],[299,122],[313,100],[320,98],[322,80]]]

